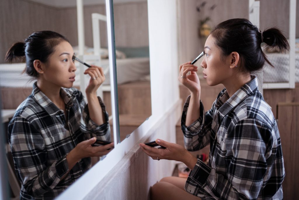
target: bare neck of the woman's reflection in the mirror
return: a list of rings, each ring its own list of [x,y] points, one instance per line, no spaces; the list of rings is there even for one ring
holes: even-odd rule
[[[44,93],[57,107],[60,108],[60,86],[46,84],[41,79],[37,81],[37,87]]]

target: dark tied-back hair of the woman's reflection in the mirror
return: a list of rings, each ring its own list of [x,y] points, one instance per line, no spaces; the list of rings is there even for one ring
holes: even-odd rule
[[[55,46],[68,40],[54,31],[39,31],[28,36],[24,42],[17,42],[10,47],[5,56],[5,61],[12,62],[16,57],[25,56],[26,67],[23,71],[29,76],[37,77],[33,61],[40,60],[47,63],[49,56],[54,52]]]

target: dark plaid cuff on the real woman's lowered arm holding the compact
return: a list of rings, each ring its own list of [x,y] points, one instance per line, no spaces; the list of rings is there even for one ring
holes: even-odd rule
[[[193,170],[187,178],[185,190],[188,193],[197,196],[198,190],[206,183],[211,173],[211,169],[212,168],[210,166],[197,159]],[[194,187],[195,185],[196,187]]]

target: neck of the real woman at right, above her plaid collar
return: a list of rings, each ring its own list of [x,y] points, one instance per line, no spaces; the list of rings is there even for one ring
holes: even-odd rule
[[[250,73],[241,74],[230,78],[227,82],[223,83],[228,92],[229,97],[233,96],[243,85],[251,81]]]

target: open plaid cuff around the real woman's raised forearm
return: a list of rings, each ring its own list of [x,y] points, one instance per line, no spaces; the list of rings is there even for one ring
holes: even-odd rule
[[[205,113],[205,109],[204,109],[204,105],[202,104],[202,101],[199,100],[199,118],[197,120],[195,120],[190,126],[186,127],[186,116],[187,116],[187,111],[188,111],[188,107],[189,107],[189,103],[190,103],[190,97],[191,95],[188,96],[186,103],[184,104],[183,107],[183,114],[182,114],[182,118],[181,118],[181,127],[183,130],[183,133],[185,132],[189,132],[189,133],[198,133],[199,130],[202,128],[202,124],[204,123],[204,113]]]

